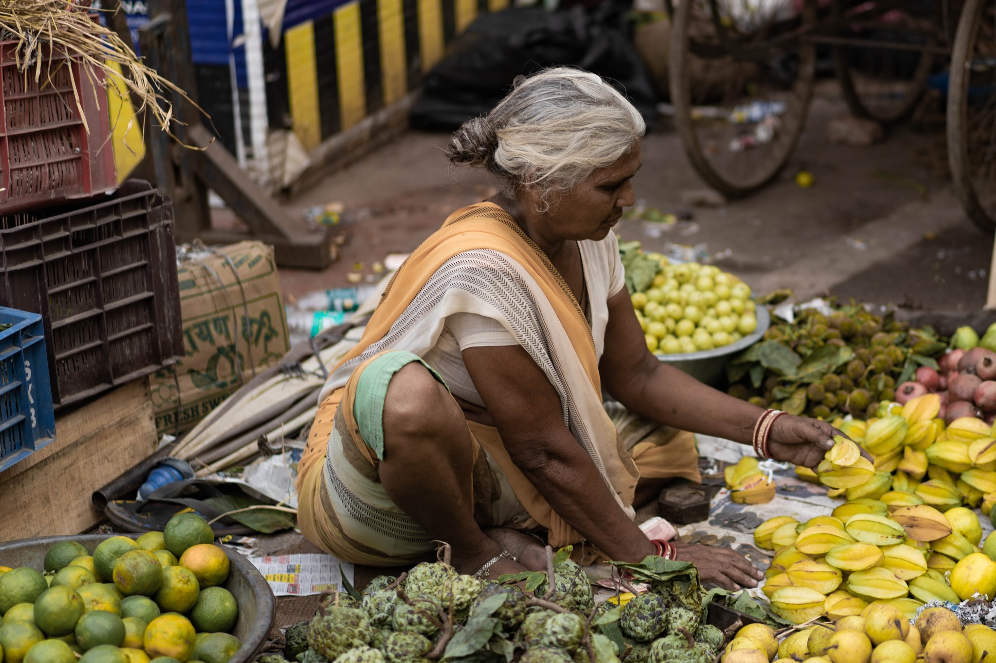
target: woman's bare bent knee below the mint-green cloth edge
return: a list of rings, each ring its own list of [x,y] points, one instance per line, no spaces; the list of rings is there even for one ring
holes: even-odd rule
[[[439,438],[459,430],[465,419],[446,387],[418,362],[390,379],[383,402],[385,442],[391,437]]]

